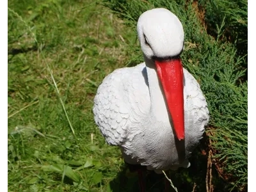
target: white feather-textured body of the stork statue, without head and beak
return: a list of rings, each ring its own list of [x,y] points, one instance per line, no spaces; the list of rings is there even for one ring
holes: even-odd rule
[[[177,140],[156,70],[145,63],[105,77],[93,113],[108,144],[119,146],[127,163],[156,172],[188,167],[188,158],[209,122],[200,85],[184,68],[185,139]]]

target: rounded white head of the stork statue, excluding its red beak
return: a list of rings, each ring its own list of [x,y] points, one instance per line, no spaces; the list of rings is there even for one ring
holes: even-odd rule
[[[178,17],[165,8],[141,14],[137,24],[141,49],[147,58],[179,56],[184,47],[184,31]]]

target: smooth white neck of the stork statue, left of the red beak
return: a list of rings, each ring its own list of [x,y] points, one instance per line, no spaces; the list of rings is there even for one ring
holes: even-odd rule
[[[168,120],[168,111],[161,82],[158,79],[156,65],[153,60],[144,56],[147,67],[148,88],[150,92],[150,115],[156,120]]]

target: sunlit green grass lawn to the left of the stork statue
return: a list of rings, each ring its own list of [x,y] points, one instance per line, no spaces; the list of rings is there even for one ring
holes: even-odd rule
[[[94,1],[8,1],[9,191],[110,188],[123,161],[94,124],[93,97],[132,56],[133,35]]]

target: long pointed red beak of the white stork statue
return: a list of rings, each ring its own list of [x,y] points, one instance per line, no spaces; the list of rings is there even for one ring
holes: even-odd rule
[[[155,61],[178,140],[184,140],[183,68],[180,59]]]

